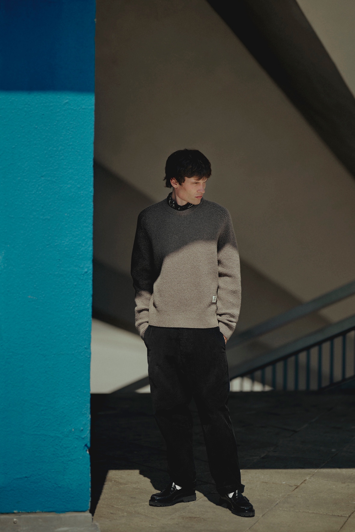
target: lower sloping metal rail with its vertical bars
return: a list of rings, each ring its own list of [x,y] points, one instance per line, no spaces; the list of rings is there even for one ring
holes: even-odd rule
[[[305,388],[310,389],[310,353],[313,347],[318,347],[317,356],[317,387],[322,387],[322,347],[329,342],[329,383],[334,382],[334,339],[342,338],[342,352],[341,352],[341,380],[346,378],[346,337],[349,332],[355,330],[355,315],[350,318],[332,323],[318,331],[312,332],[309,335],[299,338],[294,342],[280,346],[268,353],[258,356],[253,360],[247,360],[241,364],[229,369],[230,380],[237,377],[252,376],[254,380],[254,373],[261,370],[262,384],[265,384],[265,369],[272,367],[272,387],[276,388],[276,364],[284,361],[283,364],[283,389],[288,389],[287,385],[287,361],[295,358],[294,365],[294,389],[298,389],[298,355],[302,352],[306,353],[306,384]],[[355,353],[354,353],[354,372],[355,375]]]

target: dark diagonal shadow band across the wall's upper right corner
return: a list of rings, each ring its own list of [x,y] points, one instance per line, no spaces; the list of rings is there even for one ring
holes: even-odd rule
[[[207,0],[355,176],[355,98],[296,0]]]

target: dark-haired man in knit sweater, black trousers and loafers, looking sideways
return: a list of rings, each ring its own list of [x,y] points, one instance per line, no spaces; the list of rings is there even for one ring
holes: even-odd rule
[[[209,469],[220,504],[253,517],[242,495],[237,444],[229,410],[225,343],[240,310],[239,255],[227,209],[203,200],[211,164],[196,149],[166,161],[173,191],[144,209],[132,253],[135,324],[148,349],[154,415],[167,448],[171,482],[151,506],[196,500],[192,452],[195,399]]]

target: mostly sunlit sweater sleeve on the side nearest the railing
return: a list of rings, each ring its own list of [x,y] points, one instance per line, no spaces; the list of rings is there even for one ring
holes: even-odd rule
[[[239,253],[229,213],[218,239],[217,256],[217,319],[220,331],[228,339],[237,325],[241,303]]]

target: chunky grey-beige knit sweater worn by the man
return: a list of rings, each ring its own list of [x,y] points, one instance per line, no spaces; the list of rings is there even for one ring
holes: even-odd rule
[[[227,209],[201,199],[184,211],[167,201],[138,217],[131,275],[135,326],[218,327],[229,338],[240,310],[240,266]]]

